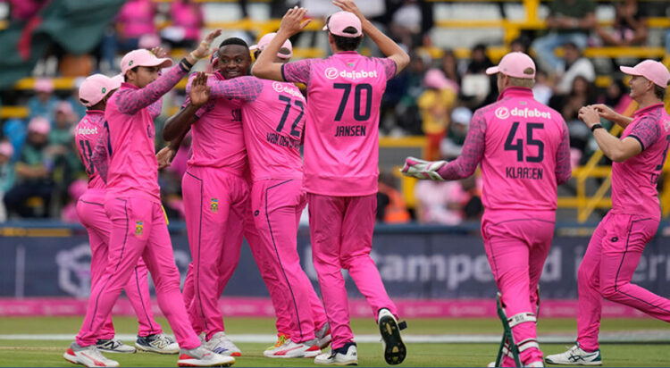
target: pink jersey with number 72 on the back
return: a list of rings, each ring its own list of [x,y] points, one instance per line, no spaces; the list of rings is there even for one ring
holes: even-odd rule
[[[300,140],[305,96],[293,83],[238,77],[214,81],[210,96],[242,101],[244,140],[252,180],[302,179]]]

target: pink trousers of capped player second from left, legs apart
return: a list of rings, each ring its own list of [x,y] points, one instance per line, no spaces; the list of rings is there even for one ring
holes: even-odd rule
[[[112,222],[107,268],[91,290],[77,343],[83,347],[96,343],[97,334],[142,257],[154,280],[158,306],[170,322],[180,347],[199,347],[200,340],[188,322],[181,298],[180,272],[174,263],[172,241],[161,205],[144,197],[108,194],[105,213]]]

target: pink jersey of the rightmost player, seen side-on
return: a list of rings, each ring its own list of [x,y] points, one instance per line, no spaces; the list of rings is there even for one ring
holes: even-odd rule
[[[637,139],[642,152],[623,163],[612,163],[612,211],[649,215],[660,220],[657,181],[670,146],[670,116],[663,104],[638,110],[621,135]]]

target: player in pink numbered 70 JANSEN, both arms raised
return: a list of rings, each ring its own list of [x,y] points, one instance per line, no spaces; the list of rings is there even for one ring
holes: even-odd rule
[[[334,1],[329,31],[333,55],[276,63],[274,55],[291,36],[306,27],[304,8],[293,8],[265,47],[252,73],[264,79],[301,82],[307,86],[304,186],[310,211],[314,268],[331,326],[331,352],[316,364],[357,364],[356,343],[349,326],[348,298],[341,269],[347,269],[373,309],[380,326],[384,358],[399,364],[406,356],[398,310],[390,300],[370,252],[379,175],[379,108],[388,79],[401,71],[409,56],[364,19],[353,1]],[[386,58],[356,53],[365,32]]]

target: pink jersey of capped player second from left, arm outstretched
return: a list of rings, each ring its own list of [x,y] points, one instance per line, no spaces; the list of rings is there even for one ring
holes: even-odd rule
[[[110,153],[107,193],[113,197],[138,196],[160,203],[158,162],[155,158],[155,126],[151,113],[160,98],[187,71],[180,64],[165,71],[145,88],[122,83],[107,102],[105,120]]]

